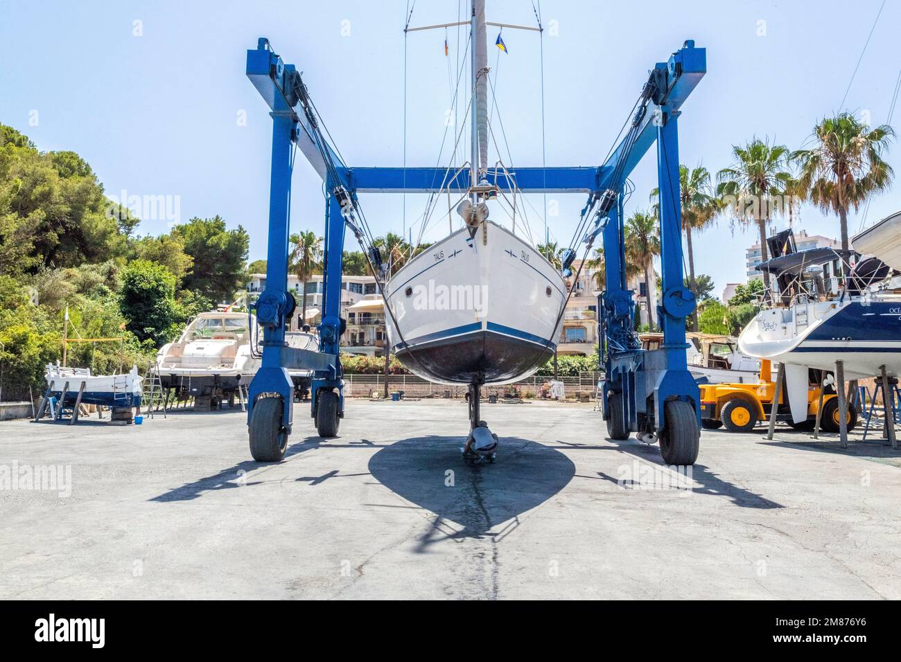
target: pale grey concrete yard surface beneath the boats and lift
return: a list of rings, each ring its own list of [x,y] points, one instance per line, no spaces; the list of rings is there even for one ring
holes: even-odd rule
[[[278,465],[240,412],[0,423],[0,599],[901,598],[901,451],[704,431],[678,489],[591,405],[485,404],[480,467],[460,401],[347,408]]]

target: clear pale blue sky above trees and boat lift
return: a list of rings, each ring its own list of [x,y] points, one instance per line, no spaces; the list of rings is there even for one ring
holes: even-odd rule
[[[411,25],[458,20],[467,0],[419,0]],[[544,0],[547,163],[600,164],[654,62],[686,39],[707,49],[708,73],[684,106],[680,160],[712,172],[731,146],[752,136],[800,147],[820,117],[839,108],[881,0],[631,3]],[[244,76],[245,51],[267,36],[305,82],[344,158],[352,165],[403,161],[406,0],[384,2],[99,2],[0,0],[0,122],[41,150],[75,150],[107,193],[178,196],[182,221],[216,213],[250,231],[250,257],[265,256],[270,120]],[[530,0],[488,0],[488,21],[533,24]],[[845,106],[887,119],[899,63],[892,32],[901,7],[889,2]],[[136,23],[140,22],[140,23]],[[761,23],[762,22],[762,23]],[[140,32],[140,35],[136,35]],[[465,43],[460,34],[460,50]],[[494,41],[496,28],[488,28]],[[489,50],[500,118],[513,166],[541,165],[539,41],[505,30],[508,54]],[[436,163],[451,103],[449,61],[457,32],[414,32],[407,41],[407,165]],[[36,113],[35,113],[36,112]],[[246,116],[244,125],[239,122]],[[35,125],[36,123],[36,125]],[[447,153],[447,152],[445,152]],[[901,171],[901,147],[889,162]],[[442,165],[445,165],[442,162]],[[633,172],[627,212],[647,206],[656,186],[653,154]],[[558,195],[549,217],[566,245],[583,195]],[[421,196],[361,199],[377,234],[410,227]],[[532,204],[542,207],[540,196]],[[293,228],[323,228],[321,183],[298,161]],[[871,205],[868,224],[897,211],[894,192]],[[852,215],[851,231],[861,214]],[[530,222],[541,234],[535,213]],[[779,227],[786,221],[778,221]],[[426,239],[437,239],[441,227]],[[796,227],[837,236],[838,222],[805,206]],[[141,233],[167,231],[166,219]],[[696,270],[717,290],[744,280],[753,230],[727,219],[696,242]],[[350,243],[348,248],[355,248]]]

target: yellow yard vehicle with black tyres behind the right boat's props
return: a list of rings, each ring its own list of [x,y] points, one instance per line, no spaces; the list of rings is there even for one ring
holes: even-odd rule
[[[807,389],[807,418],[796,422],[791,414],[785,396],[786,389],[779,395],[776,420],[787,422],[796,430],[813,430],[816,412],[822,406],[820,427],[824,432],[838,432],[840,424],[838,396],[827,376],[820,383],[820,371],[810,371],[810,385]],[[768,359],[760,361],[760,382],[757,384],[701,384],[701,425],[707,430],[725,427],[732,432],[750,432],[758,422],[767,421],[772,412],[776,382],[772,379],[772,368]],[[824,392],[821,400],[820,392]],[[803,411],[803,410],[802,410]],[[857,423],[857,410],[848,403],[846,419],[848,430]]]

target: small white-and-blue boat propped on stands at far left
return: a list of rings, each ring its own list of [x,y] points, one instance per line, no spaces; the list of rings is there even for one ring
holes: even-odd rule
[[[75,404],[82,385],[82,404],[128,408],[141,406],[143,378],[138,374],[136,366],[123,375],[91,375],[90,368],[48,364],[44,378],[50,395],[66,406]]]

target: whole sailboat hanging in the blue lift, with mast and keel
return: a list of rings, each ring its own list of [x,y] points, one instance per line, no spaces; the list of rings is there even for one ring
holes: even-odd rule
[[[563,275],[516,233],[515,222],[508,230],[488,220],[499,189],[489,182],[484,0],[473,0],[471,15],[470,186],[456,207],[462,227],[410,259],[384,287],[397,359],[431,382],[469,385],[468,460],[493,459],[496,450],[496,437],[479,419],[480,387],[523,379],[553,356],[568,298]],[[504,177],[493,170],[495,180]]]

